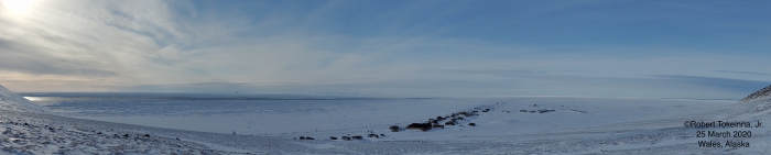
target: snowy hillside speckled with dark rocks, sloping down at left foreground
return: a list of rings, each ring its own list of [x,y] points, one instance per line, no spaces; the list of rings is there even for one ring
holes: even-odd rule
[[[191,140],[206,136],[224,137],[54,115],[0,86],[0,154],[241,154]]]

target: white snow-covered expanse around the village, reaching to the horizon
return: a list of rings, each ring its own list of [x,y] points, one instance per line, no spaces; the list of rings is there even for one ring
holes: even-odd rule
[[[0,124],[0,137],[4,153],[771,153],[771,130],[767,128],[697,129],[683,124],[685,121],[747,121],[753,125],[758,121],[771,123],[768,120],[771,118],[768,111],[771,103],[763,99],[737,103],[728,100],[577,97],[228,97],[77,101],[45,101],[52,96],[29,98],[51,110],[31,112],[3,109],[0,114],[3,122]],[[4,100],[2,103],[9,107],[34,106],[25,100]],[[464,119],[457,120],[457,125],[445,125],[444,129],[389,130],[391,125],[404,129],[411,123],[447,118],[454,113],[457,115],[463,111],[476,114],[460,114]],[[232,134],[234,131],[236,134]],[[752,135],[698,137],[697,131],[751,131]],[[369,134],[378,137],[368,137]],[[339,140],[354,135],[363,139]],[[295,140],[300,136],[315,140]],[[330,136],[338,140],[329,140]],[[698,141],[710,140],[721,141],[721,144],[728,140],[743,141],[749,142],[750,147],[699,147]]]

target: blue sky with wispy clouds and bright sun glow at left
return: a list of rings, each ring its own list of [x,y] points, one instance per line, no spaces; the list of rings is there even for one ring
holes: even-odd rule
[[[0,0],[20,92],[740,99],[769,1]]]

